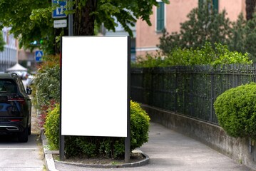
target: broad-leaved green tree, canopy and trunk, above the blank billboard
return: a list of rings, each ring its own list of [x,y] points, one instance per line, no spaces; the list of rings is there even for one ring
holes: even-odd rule
[[[61,1],[61,0],[60,0]],[[168,0],[163,0],[168,3]],[[137,19],[150,24],[150,14],[158,1],[148,0],[73,0],[68,1],[66,14],[73,14],[73,34],[92,36],[95,24],[102,23],[108,30],[115,31],[117,21],[130,33]],[[51,0],[0,0],[0,23],[11,26],[11,32],[19,37],[20,46],[34,48],[33,41],[42,40],[40,44],[46,53],[58,52],[58,36],[67,35],[68,28],[53,28]],[[57,39],[56,39],[57,37]],[[57,42],[56,42],[57,41]]]

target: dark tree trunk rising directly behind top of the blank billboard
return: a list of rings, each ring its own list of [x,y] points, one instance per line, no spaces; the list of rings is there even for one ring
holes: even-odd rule
[[[76,1],[76,6],[82,0]],[[81,6],[81,10],[76,9],[74,14],[74,31],[76,36],[93,36],[95,15],[90,15],[96,11],[97,0],[87,0],[85,6]]]

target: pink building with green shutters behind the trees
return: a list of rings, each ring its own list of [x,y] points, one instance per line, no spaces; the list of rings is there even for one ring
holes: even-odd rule
[[[188,20],[189,12],[202,1],[205,0],[170,0],[170,4],[159,1],[160,7],[154,6],[150,16],[152,26],[142,20],[136,23],[136,56],[155,53],[162,29],[166,28],[168,33],[179,32],[180,23]],[[213,0],[213,6],[218,11],[225,9],[230,21],[236,21],[240,13],[245,16],[245,0]]]

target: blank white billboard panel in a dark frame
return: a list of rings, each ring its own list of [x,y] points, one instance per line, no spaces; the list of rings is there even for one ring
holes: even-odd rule
[[[127,137],[128,36],[63,36],[61,135]]]

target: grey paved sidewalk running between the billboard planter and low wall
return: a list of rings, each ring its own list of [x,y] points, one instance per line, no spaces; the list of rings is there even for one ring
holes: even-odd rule
[[[150,123],[149,136],[149,141],[140,147],[140,150],[150,158],[148,165],[104,169],[63,165],[56,162],[56,169],[61,171],[252,171],[250,168],[234,162],[229,157],[216,152],[201,142],[176,133],[157,123]]]

